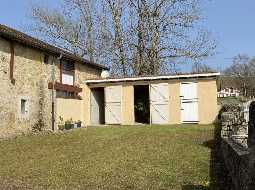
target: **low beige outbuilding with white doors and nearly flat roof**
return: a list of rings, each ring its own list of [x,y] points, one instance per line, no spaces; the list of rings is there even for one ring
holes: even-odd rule
[[[85,125],[213,123],[219,73],[87,80]]]

